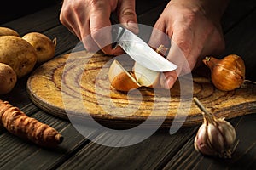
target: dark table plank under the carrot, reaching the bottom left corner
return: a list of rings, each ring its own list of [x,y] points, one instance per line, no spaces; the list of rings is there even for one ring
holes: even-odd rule
[[[49,116],[38,111],[32,117],[55,127],[64,136],[63,142],[54,149],[44,149],[35,144],[18,139],[10,133],[0,136],[0,169],[48,169],[58,167],[73,155],[83,145],[89,143],[88,139],[79,134],[69,122],[57,117]],[[91,136],[96,135],[96,130],[91,130]],[[91,137],[92,138],[92,137]]]

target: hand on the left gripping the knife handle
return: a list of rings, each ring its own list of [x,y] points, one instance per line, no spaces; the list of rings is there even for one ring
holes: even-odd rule
[[[105,54],[121,54],[113,49],[110,14],[116,12],[125,28],[138,32],[135,0],[64,0],[61,8],[61,23],[83,42],[84,48]],[[107,46],[106,46],[107,44]]]

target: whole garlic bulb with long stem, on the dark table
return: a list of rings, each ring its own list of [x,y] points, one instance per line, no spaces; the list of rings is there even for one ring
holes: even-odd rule
[[[195,150],[204,155],[230,158],[236,140],[235,128],[224,118],[216,118],[208,113],[198,99],[194,98],[194,101],[204,111],[204,122],[194,141]]]

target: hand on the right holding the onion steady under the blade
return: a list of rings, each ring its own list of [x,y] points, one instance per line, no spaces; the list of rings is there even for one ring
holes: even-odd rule
[[[220,19],[226,4],[224,0],[172,0],[167,4],[148,42],[152,47],[171,46],[166,58],[178,66],[162,74],[163,88],[172,88],[177,77],[189,73],[202,57],[224,50]]]

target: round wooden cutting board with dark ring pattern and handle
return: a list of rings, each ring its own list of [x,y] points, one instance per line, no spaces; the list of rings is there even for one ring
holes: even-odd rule
[[[131,69],[133,61],[125,56],[116,59]],[[230,119],[256,113],[255,85],[223,92],[214,88],[209,78],[196,75],[193,82],[180,78],[171,90],[140,88],[121,93],[109,85],[108,66],[112,61],[113,56],[85,51],[56,57],[28,78],[28,94],[35,105],[52,115],[84,120],[90,114],[96,122],[112,128],[140,123],[146,127],[198,125],[202,115],[192,102],[194,96],[217,117]]]

